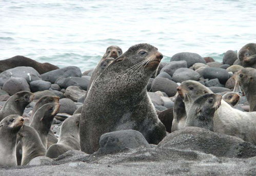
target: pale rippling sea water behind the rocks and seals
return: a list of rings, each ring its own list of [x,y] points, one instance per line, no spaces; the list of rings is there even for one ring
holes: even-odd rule
[[[223,54],[256,40],[256,1],[1,0],[0,60],[23,55],[93,68],[109,45],[150,43],[165,56]]]

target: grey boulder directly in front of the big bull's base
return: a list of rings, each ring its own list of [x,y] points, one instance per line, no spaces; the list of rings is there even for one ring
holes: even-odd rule
[[[144,136],[135,130],[121,130],[105,133],[100,138],[98,153],[112,154],[127,148],[151,148]]]

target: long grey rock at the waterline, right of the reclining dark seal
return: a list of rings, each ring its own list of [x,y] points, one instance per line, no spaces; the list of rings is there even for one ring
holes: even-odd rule
[[[60,68],[56,70],[52,70],[49,72],[46,72],[44,74],[41,74],[42,80],[49,81],[52,84],[57,80],[57,78],[63,77],[82,77],[82,72],[80,68],[76,66],[68,66],[65,68]]]

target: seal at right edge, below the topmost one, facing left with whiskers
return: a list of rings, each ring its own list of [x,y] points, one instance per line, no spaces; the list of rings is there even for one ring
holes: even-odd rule
[[[234,75],[238,80],[250,105],[250,111],[256,111],[256,69],[244,68]]]

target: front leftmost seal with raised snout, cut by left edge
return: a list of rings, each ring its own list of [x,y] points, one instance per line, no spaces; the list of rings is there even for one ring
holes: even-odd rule
[[[16,166],[17,133],[24,124],[19,115],[9,115],[0,122],[0,166]]]

